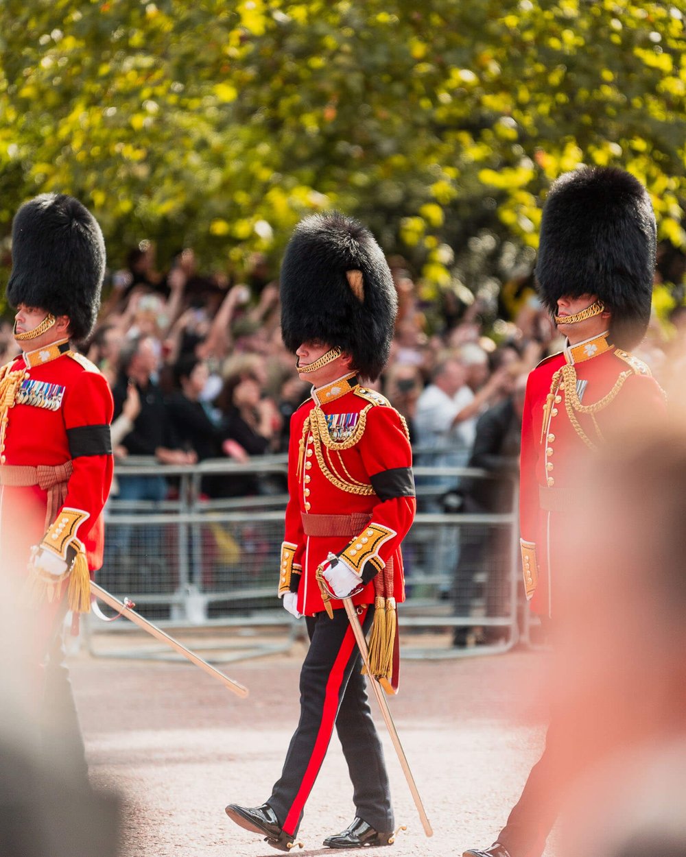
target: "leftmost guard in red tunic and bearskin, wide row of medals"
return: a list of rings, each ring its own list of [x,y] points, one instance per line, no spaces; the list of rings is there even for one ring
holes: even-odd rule
[[[85,779],[60,631],[68,609],[89,609],[89,575],[102,564],[112,399],[103,375],[70,343],[93,327],[105,245],[79,201],[45,194],[16,214],[12,261],[7,299],[24,351],[0,369],[3,582],[26,610],[32,710],[63,767]]]

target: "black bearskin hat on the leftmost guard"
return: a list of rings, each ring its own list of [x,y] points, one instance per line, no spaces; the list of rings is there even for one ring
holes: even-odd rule
[[[69,336],[80,342],[95,324],[104,273],[102,232],[81,202],[41,194],[21,206],[12,224],[12,306],[69,315]]]

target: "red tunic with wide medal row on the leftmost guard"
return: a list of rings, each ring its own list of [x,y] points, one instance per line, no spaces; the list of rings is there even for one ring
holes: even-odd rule
[[[27,363],[35,363],[30,365]],[[105,377],[68,344],[50,345],[18,357],[5,369],[17,373],[14,403],[2,409],[5,426],[0,464],[49,465],[72,462],[66,496],[57,509],[75,510],[72,536],[83,543],[91,572],[102,565],[102,510],[110,490],[112,456],[109,425],[112,397]],[[2,385],[4,381],[0,381]],[[47,491],[39,485],[3,484],[0,495],[3,559],[20,574],[27,571],[30,548],[45,536]],[[79,512],[81,514],[76,514]]]

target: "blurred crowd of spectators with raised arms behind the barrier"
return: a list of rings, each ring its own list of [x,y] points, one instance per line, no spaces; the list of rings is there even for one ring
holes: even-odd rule
[[[563,343],[539,305],[531,271],[504,281],[495,298],[470,302],[464,287],[426,300],[404,260],[390,265],[400,310],[388,367],[374,386],[406,417],[416,464],[475,464],[479,417],[511,400],[521,377]],[[656,282],[672,284],[676,305],[666,323],[653,320],[638,352],[668,391],[686,359],[685,270],[683,254],[663,248]],[[164,273],[153,243],[131,249],[111,273],[97,327],[81,346],[111,383],[118,459],[246,462],[286,452],[290,416],[309,387],[280,339],[276,277],[262,254],[232,282],[224,273],[202,273],[190,248]],[[3,323],[3,357],[15,348]],[[424,511],[442,507],[451,486],[449,476],[424,479]],[[239,476],[208,477],[202,488],[211,497],[258,489]],[[118,489],[125,499],[158,499],[166,483],[159,476],[120,479]]]

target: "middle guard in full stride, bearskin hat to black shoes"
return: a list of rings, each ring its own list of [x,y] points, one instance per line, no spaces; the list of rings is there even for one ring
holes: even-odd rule
[[[279,595],[289,612],[304,614],[310,650],[300,677],[300,722],[279,781],[262,806],[232,804],[226,812],[275,848],[292,848],[335,726],[356,812],[324,844],[389,845],[388,776],[339,599],[352,593],[364,631],[371,629],[371,668],[394,692],[395,604],[405,596],[400,542],[415,513],[412,452],[403,417],[364,383],[388,360],[394,285],[370,232],[335,213],[298,225],[280,282],[284,342],[313,389],[291,421]]]

